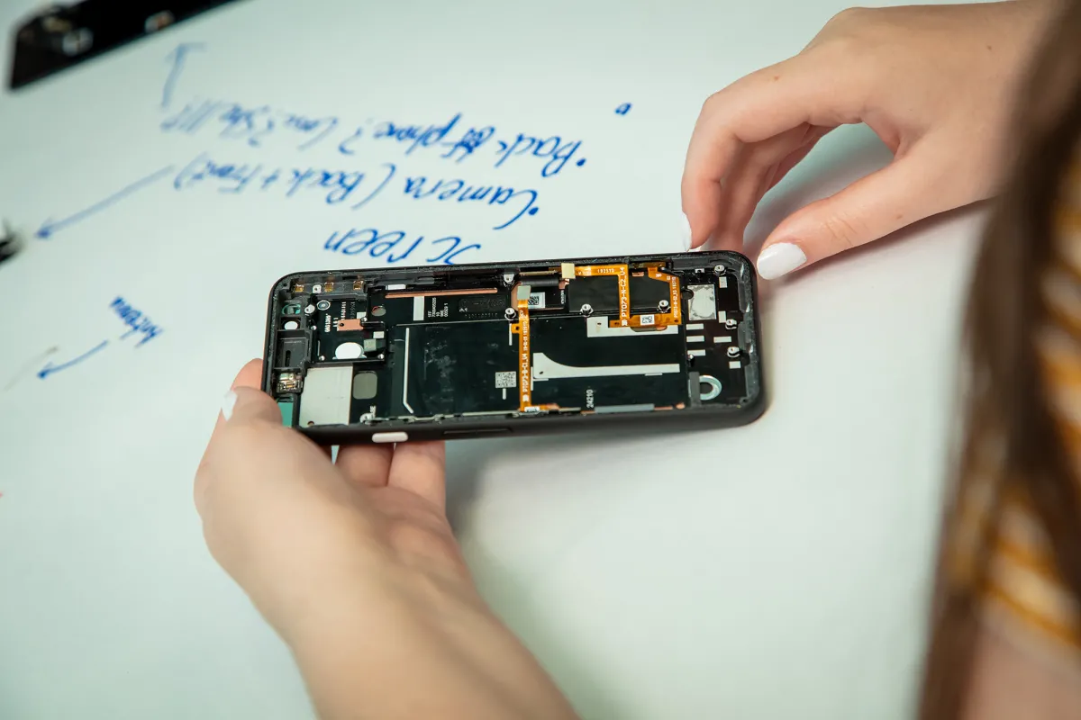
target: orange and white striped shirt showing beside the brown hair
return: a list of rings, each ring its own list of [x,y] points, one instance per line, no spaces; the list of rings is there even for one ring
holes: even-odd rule
[[[1081,152],[1059,200],[1054,257],[1041,283],[1049,312],[1037,336],[1037,356],[1052,417],[1081,477]],[[1001,448],[988,443],[982,450],[976,465],[993,468]],[[990,511],[991,479],[978,473],[966,478],[953,547],[961,565],[955,571],[972,570],[979,528]],[[1081,606],[1059,578],[1047,535],[1022,491],[1005,491],[989,542],[980,587],[985,621],[1041,654],[1050,651],[1081,664]]]

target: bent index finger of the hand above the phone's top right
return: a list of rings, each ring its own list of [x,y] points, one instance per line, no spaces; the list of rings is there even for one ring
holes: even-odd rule
[[[757,70],[710,95],[691,135],[683,168],[683,213],[691,246],[720,221],[721,184],[743,149],[801,124],[835,127],[860,121],[866,98],[858,70],[814,50]]]

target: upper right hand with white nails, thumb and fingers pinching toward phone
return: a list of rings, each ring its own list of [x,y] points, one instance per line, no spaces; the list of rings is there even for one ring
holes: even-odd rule
[[[795,57],[705,103],[688,149],[691,247],[743,247],[762,196],[829,131],[866,123],[886,167],[793,213],[758,256],[759,274],[796,268],[991,195],[1015,86],[1051,0],[851,9]]]

